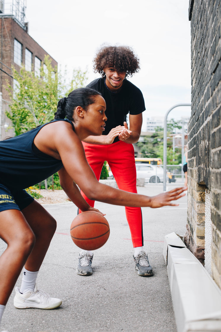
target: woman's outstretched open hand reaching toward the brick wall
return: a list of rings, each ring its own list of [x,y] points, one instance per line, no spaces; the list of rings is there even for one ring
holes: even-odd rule
[[[187,190],[187,187],[180,187],[180,188],[172,189],[166,193],[152,196],[152,197],[150,197],[150,199],[151,199],[150,207],[156,208],[156,207],[163,207],[166,205],[178,206],[179,204],[171,203],[171,201],[176,201],[179,198],[185,196],[186,194],[183,192],[186,190]]]

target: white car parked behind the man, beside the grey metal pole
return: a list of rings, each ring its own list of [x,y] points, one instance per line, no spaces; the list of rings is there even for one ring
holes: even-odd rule
[[[145,182],[163,182],[163,168],[157,165],[136,164],[137,179],[145,179]]]

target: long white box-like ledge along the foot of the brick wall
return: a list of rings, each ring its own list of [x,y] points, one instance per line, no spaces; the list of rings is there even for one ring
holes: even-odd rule
[[[164,238],[163,256],[178,332],[220,332],[221,290],[176,233]]]

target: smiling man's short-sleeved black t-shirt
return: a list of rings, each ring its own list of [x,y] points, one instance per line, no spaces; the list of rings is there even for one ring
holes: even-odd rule
[[[133,83],[124,79],[119,92],[111,92],[105,86],[106,77],[97,78],[87,85],[101,93],[106,102],[106,126],[103,135],[107,135],[112,128],[118,125],[124,125],[127,114],[137,115],[145,111],[145,104],[142,92]],[[114,142],[118,141],[116,137]]]

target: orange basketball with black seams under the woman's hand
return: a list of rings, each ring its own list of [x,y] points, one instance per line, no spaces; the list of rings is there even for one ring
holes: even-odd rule
[[[84,250],[95,250],[102,247],[110,235],[106,218],[95,211],[85,211],[77,215],[71,224],[71,238]]]

